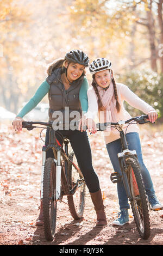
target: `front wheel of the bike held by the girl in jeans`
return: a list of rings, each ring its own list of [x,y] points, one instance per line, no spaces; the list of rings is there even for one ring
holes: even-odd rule
[[[150,235],[148,200],[143,185],[140,167],[136,160],[132,158],[127,159],[126,162],[128,166],[128,181],[132,196],[130,203],[134,220],[142,239],[148,239]]]

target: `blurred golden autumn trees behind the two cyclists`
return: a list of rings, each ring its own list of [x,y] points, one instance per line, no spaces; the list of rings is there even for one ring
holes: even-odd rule
[[[78,48],[90,61],[110,59],[116,81],[163,117],[162,3],[0,0],[0,106],[17,114],[47,77],[48,65]],[[91,85],[89,72],[87,78]]]

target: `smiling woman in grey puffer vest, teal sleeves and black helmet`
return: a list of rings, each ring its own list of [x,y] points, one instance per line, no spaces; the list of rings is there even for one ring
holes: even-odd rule
[[[68,122],[70,123],[72,111],[78,111],[79,119],[82,115],[82,110],[87,111],[86,92],[88,84],[84,75],[85,67],[88,66],[88,63],[89,58],[83,51],[72,50],[66,53],[64,59],[59,59],[49,66],[46,81],[41,84],[34,97],[24,106],[22,111],[17,114],[17,117],[13,121],[13,126],[15,130],[22,130],[23,116],[31,111],[48,93],[49,121],[55,122],[57,120],[58,124],[61,124],[61,126],[58,126],[61,127],[59,128],[60,133],[70,139],[72,149],[76,155],[86,185],[89,188],[92,202],[95,206],[98,226],[106,225],[107,222],[98,176],[92,167],[91,149],[87,133],[86,131],[83,133],[79,130],[71,130],[70,126],[67,126],[66,121],[67,113]],[[58,120],[58,113],[62,113],[64,118]],[[48,142],[49,133],[47,130],[45,145],[47,145]],[[47,152],[47,157],[54,157],[52,149]],[[42,202],[40,215],[39,218],[37,218],[36,224],[43,224]]]

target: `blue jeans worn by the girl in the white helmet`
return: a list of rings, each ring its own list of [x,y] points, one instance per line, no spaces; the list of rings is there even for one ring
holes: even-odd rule
[[[126,138],[129,144],[128,145],[129,150],[136,150],[137,158],[140,163],[140,168],[141,168],[141,173],[142,173],[142,178],[145,185],[146,193],[148,196],[152,196],[153,194],[155,194],[155,191],[153,188],[151,175],[149,174],[145,164],[143,163],[139,133],[129,132],[126,135]],[[118,162],[118,156],[117,156],[117,154],[120,153],[122,149],[121,139],[116,139],[116,141],[106,144],[106,149],[108,150],[110,161],[112,163],[114,170],[121,174],[120,164]],[[124,185],[122,181],[117,183],[117,192],[118,192],[120,210],[124,208],[129,209],[130,207],[128,203],[128,198],[127,198],[126,191],[124,189]]]

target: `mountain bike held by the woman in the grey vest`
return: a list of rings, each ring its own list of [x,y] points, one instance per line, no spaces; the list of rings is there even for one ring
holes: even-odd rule
[[[72,217],[74,220],[80,219],[85,207],[86,185],[73,151],[68,153],[70,141],[59,131],[53,130],[52,123],[32,121],[22,123],[22,127],[27,130],[40,127],[35,125],[43,125],[46,126],[45,129],[49,129],[49,144],[42,147],[41,200],[45,237],[47,240],[53,240],[57,221],[57,203],[64,202],[62,198],[67,196]],[[51,157],[46,159],[48,149],[53,150],[54,159]]]

